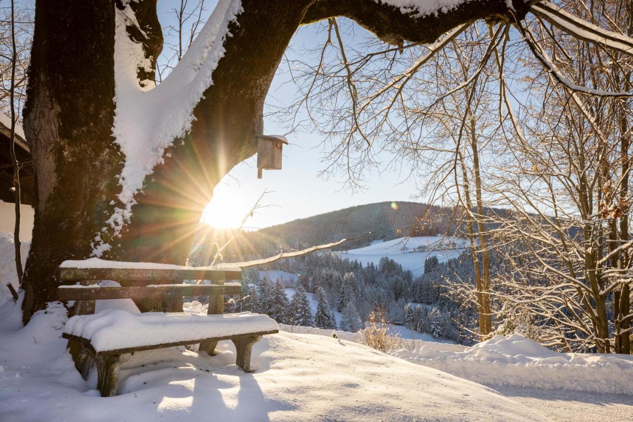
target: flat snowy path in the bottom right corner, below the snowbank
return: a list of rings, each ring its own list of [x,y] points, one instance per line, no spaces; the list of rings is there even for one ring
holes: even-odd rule
[[[558,422],[633,419],[633,395],[491,386],[506,397]]]

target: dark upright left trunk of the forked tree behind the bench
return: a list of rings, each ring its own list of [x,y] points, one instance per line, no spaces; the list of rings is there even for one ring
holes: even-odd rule
[[[114,113],[113,4],[35,4],[24,129],[35,169],[35,224],[23,277],[24,320],[54,300],[54,271],[91,253],[120,190]],[[61,24],[63,23],[63,24]]]

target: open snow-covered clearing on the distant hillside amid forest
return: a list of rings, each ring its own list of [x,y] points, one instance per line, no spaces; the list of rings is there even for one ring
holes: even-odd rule
[[[454,246],[447,245],[450,241],[454,242]],[[449,242],[446,242],[442,236],[398,238],[386,242],[372,241],[371,245],[364,248],[337,253],[340,253],[342,258],[357,260],[363,265],[369,262],[378,265],[382,257],[389,257],[402,265],[404,270],[411,270],[414,277],[418,277],[424,272],[424,261],[427,257],[436,256],[440,262],[445,262],[458,257],[468,246],[465,239],[451,238]],[[444,243],[443,246],[441,246],[442,243]],[[432,252],[413,252],[416,248],[430,249]]]

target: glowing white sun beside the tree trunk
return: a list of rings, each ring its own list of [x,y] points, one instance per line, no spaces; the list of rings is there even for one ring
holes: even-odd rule
[[[213,199],[204,208],[201,222],[217,229],[237,229],[249,210],[239,189],[218,184],[213,189]]]

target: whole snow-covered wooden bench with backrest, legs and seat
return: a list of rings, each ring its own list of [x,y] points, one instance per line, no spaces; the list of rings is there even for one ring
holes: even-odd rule
[[[222,314],[225,295],[240,293],[241,269],[180,267],[146,262],[112,262],[100,259],[65,261],[57,278],[58,300],[76,300],[75,315],[64,328],[63,338],[75,366],[87,378],[92,361],[97,365],[97,388],[103,397],[116,393],[120,356],[141,350],[191,345],[213,356],[220,340],[232,340],[236,364],[251,371],[251,349],[261,336],[278,333],[277,323],[266,315],[244,312]],[[182,283],[185,279],[210,280],[211,285]],[[120,285],[96,285],[113,280]],[[130,286],[130,281],[134,285]],[[180,281],[180,284],[173,284]],[[115,283],[116,284],[116,283]],[[95,300],[161,298],[208,295],[208,315],[184,312],[138,312],[108,309],[94,313]]]

